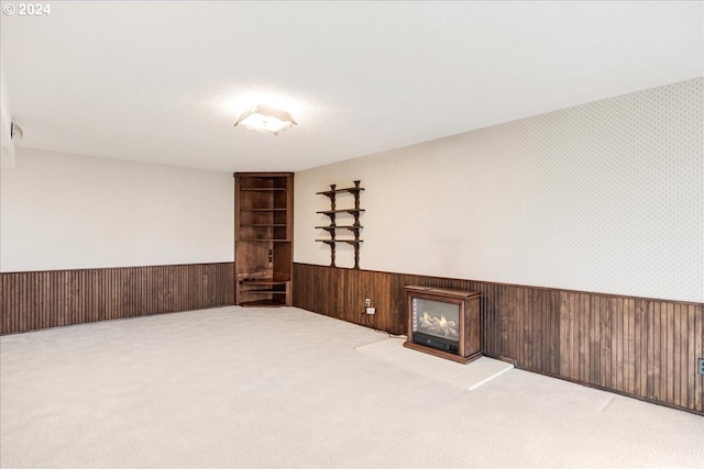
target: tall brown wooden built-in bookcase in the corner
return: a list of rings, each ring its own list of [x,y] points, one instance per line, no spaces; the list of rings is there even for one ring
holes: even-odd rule
[[[235,303],[290,306],[293,172],[234,174]]]

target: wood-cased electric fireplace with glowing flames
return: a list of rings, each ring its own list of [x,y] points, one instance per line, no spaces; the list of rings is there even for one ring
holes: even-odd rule
[[[404,346],[462,364],[481,357],[479,300],[472,291],[406,287]]]

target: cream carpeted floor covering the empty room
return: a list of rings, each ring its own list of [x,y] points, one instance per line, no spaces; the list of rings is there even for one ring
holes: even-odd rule
[[[704,417],[516,369],[470,391],[381,340],[238,306],[3,336],[0,466],[704,467]]]

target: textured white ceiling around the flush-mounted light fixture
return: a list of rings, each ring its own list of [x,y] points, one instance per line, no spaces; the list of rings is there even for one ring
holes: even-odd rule
[[[19,146],[228,171],[301,170],[704,75],[704,2],[53,1],[1,29]],[[257,103],[299,125],[233,127]]]

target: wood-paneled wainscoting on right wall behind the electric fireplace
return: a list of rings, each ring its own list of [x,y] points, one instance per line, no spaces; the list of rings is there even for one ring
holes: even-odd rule
[[[295,264],[294,305],[405,334],[407,284],[481,292],[488,356],[704,415],[701,303]],[[375,316],[363,314],[366,298]]]

